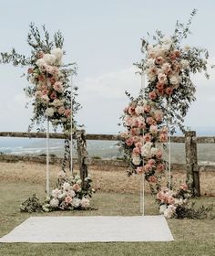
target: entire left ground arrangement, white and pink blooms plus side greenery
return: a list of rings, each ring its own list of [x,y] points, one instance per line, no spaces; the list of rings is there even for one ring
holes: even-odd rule
[[[89,198],[92,197],[95,190],[91,187],[91,182],[90,176],[85,178],[83,184],[80,176],[74,174],[67,177],[65,172],[61,171],[58,173],[56,188],[51,191],[50,197],[46,198],[44,203],[40,203],[36,195],[33,195],[22,203],[20,211],[50,212],[54,210],[92,209]]]

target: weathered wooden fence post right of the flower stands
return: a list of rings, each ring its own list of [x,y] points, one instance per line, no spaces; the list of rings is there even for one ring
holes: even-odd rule
[[[200,168],[198,166],[196,132],[185,133],[187,183],[193,196],[200,197]]]

